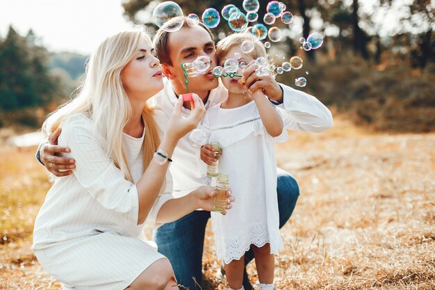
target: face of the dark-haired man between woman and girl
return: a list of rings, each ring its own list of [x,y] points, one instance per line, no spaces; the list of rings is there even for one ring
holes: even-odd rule
[[[208,56],[211,59],[211,64],[206,73],[188,77],[189,92],[196,92],[205,97],[206,92],[217,87],[218,81],[211,72],[216,66],[215,42],[204,28],[201,26],[182,27],[179,31],[170,33],[167,44],[172,61],[172,65],[168,65],[168,68],[174,76],[172,83],[177,92],[186,92],[181,63],[192,63],[198,56]]]

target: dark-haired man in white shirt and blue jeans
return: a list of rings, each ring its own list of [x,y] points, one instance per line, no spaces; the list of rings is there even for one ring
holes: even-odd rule
[[[181,63],[192,63],[198,56],[208,56],[211,68],[205,74],[188,78],[189,92],[195,92],[203,100],[206,108],[222,102],[224,93],[222,85],[215,79],[211,70],[216,65],[215,43],[209,29],[200,23],[189,26],[186,17],[178,31],[168,33],[168,28],[179,22],[179,17],[170,19],[163,24],[154,37],[154,48],[161,61],[162,72],[165,74],[165,88],[154,97],[154,102],[170,117],[177,102],[177,96],[186,93],[186,78]],[[286,128],[299,131],[320,132],[332,125],[329,110],[311,95],[299,92],[288,86],[280,85],[271,76],[259,78],[255,74],[255,63],[245,67],[243,75],[245,86],[249,90],[262,89],[265,95],[284,112]],[[185,103],[183,115],[190,114],[190,104]],[[64,152],[66,148],[55,146],[55,132],[49,138],[51,144],[41,146],[41,161],[55,175],[66,175],[58,170],[69,168],[74,161],[54,156],[56,152]],[[206,164],[200,160],[200,148],[190,145],[188,136],[179,140],[172,155],[170,171],[174,179],[174,197],[181,197],[190,191],[208,183]],[[72,162],[72,163],[70,163]],[[277,194],[279,203],[279,227],[284,226],[295,208],[299,196],[299,187],[295,179],[287,172],[277,169]],[[69,173],[70,174],[70,173]],[[177,280],[189,289],[196,289],[195,281],[202,282],[202,252],[206,223],[210,218],[207,211],[194,211],[173,223],[162,225],[154,232],[154,240],[158,251],[170,259]],[[252,260],[252,251],[245,255],[245,262]],[[252,289],[247,279],[246,271],[243,285],[246,290]]]

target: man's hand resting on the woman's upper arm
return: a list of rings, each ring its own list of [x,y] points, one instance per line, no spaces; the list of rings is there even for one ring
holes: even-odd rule
[[[42,140],[36,152],[36,160],[57,177],[71,175],[72,169],[76,168],[74,159],[57,156],[58,153],[69,153],[71,151],[68,147],[58,146],[61,131],[62,129],[58,128],[47,139]]]

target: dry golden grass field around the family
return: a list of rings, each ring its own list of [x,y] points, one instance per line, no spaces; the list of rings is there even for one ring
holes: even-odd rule
[[[60,289],[30,250],[49,188],[34,151],[0,146],[0,289]],[[435,134],[373,133],[336,117],[325,133],[291,132],[277,160],[301,192],[281,230],[279,289],[435,289]],[[224,289],[218,268],[208,227],[202,289]],[[248,272],[256,282],[254,264]]]

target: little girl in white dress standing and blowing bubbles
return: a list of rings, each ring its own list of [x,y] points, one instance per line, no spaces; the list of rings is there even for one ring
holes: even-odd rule
[[[254,50],[247,54],[240,49],[245,40],[254,43]],[[217,43],[220,66],[229,58],[238,58],[235,54],[241,56],[236,75],[256,58],[268,56],[263,44],[249,33],[229,35]],[[252,248],[260,282],[258,289],[272,290],[273,254],[283,248],[274,142],[287,140],[287,131],[277,108],[261,89],[248,92],[239,76],[222,77],[222,83],[228,98],[208,108],[202,124],[210,142],[220,143],[220,172],[229,175],[229,188],[236,198],[236,206],[226,216],[211,213],[217,257],[224,261],[229,289],[244,289],[244,255]],[[213,151],[209,145],[202,150],[202,153]]]

